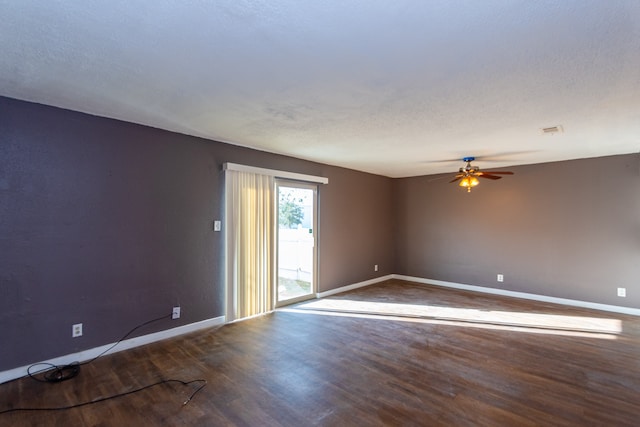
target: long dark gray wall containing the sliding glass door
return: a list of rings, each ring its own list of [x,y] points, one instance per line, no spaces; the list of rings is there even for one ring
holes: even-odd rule
[[[388,178],[0,97],[0,370],[223,315],[224,162],[329,178],[320,291],[393,271]]]

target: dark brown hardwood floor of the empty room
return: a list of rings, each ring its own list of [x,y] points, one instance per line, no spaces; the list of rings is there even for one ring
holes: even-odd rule
[[[390,281],[0,385],[6,426],[637,426],[640,318]]]

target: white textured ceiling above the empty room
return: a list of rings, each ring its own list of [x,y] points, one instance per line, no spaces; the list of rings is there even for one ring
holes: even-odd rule
[[[1,95],[390,177],[640,151],[638,0],[0,0],[0,40]]]

